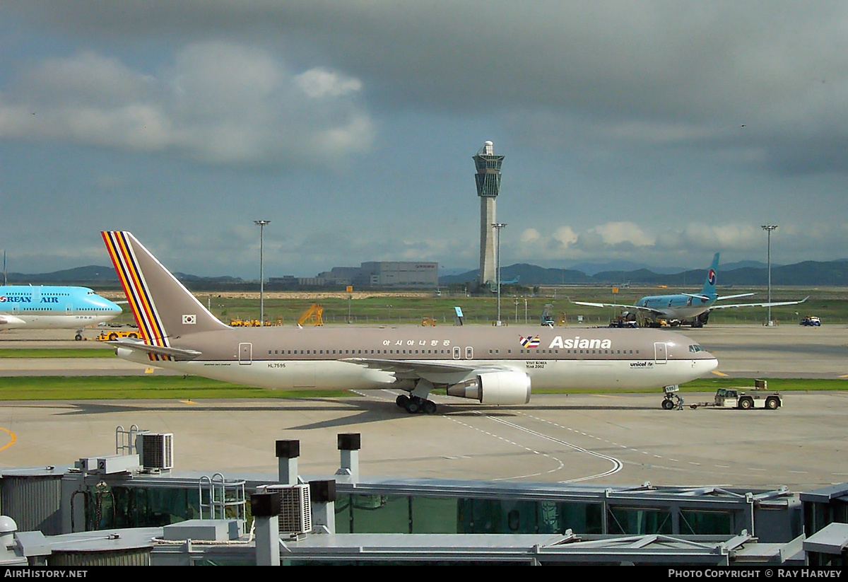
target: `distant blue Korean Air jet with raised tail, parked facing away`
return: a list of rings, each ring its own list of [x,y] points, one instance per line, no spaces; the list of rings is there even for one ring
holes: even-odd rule
[[[804,303],[806,297],[800,301],[778,301],[772,303],[741,303],[726,305],[717,303],[726,299],[738,299],[748,297],[752,293],[739,295],[725,295],[719,297],[716,293],[718,271],[718,253],[712,257],[710,270],[706,271],[706,281],[700,293],[678,293],[671,295],[650,295],[639,299],[635,305],[620,305],[617,303],[589,303],[588,301],[572,301],[577,305],[589,305],[590,307],[618,307],[631,311],[625,311],[622,315],[625,319],[633,321],[636,313],[639,313],[650,324],[657,325],[659,320],[665,319],[672,325],[690,324],[692,327],[703,327],[714,309],[731,309],[736,307],[774,307],[775,305],[797,305]]]

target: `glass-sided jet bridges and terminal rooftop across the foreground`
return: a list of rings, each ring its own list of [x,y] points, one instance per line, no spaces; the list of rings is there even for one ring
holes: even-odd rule
[[[173,434],[116,428],[115,454],[0,469],[0,563],[126,565],[652,564],[838,567],[848,485],[533,484],[360,475],[338,434],[334,475],[175,470]]]

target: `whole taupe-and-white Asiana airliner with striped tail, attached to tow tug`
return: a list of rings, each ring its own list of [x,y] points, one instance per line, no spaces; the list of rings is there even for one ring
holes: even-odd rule
[[[395,389],[408,393],[398,406],[432,414],[434,390],[516,405],[531,389],[660,388],[717,367],[693,340],[649,329],[229,327],[130,232],[102,234],[143,337],[113,342],[117,355],[186,374],[271,389]]]

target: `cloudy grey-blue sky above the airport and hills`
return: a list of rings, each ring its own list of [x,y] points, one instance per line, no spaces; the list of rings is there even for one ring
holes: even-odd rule
[[[848,3],[0,0],[0,248],[174,271],[848,257]]]

